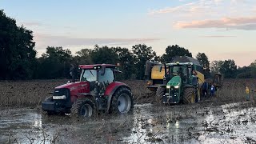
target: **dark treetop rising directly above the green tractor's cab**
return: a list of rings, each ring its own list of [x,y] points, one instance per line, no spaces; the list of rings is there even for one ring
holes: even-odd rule
[[[192,57],[192,54],[189,50],[180,47],[178,45],[167,46],[166,47],[166,54],[162,54],[162,61],[163,62],[170,62],[172,58],[175,56],[188,56]]]

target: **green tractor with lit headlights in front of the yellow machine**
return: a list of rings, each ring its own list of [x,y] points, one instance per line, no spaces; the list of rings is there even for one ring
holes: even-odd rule
[[[156,97],[162,103],[194,103],[200,101],[200,88],[204,82],[202,66],[193,62],[173,62],[164,65],[163,84]]]

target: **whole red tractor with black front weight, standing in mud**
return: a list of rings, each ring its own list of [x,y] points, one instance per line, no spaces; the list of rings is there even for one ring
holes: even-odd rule
[[[47,114],[67,113],[76,117],[93,117],[99,110],[127,113],[133,107],[130,87],[114,82],[115,65],[80,65],[80,82],[70,82],[54,89],[53,96],[42,102]]]

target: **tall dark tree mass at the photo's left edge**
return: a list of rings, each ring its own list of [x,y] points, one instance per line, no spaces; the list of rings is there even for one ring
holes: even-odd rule
[[[32,78],[36,62],[32,34],[0,10],[0,79]]]

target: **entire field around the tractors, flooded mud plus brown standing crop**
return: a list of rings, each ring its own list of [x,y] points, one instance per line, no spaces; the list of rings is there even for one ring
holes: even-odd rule
[[[63,82],[0,82],[0,143],[256,143],[256,94],[245,96],[254,79],[225,81],[214,98],[175,106],[156,105],[144,82],[127,81],[136,102],[130,114],[45,116],[41,101]]]

